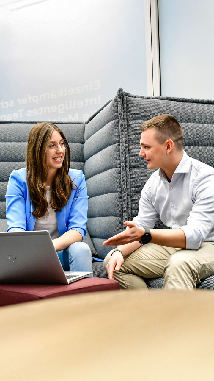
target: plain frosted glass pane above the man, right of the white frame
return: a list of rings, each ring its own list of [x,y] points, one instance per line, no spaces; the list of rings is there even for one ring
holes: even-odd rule
[[[214,99],[213,0],[159,0],[161,95]]]

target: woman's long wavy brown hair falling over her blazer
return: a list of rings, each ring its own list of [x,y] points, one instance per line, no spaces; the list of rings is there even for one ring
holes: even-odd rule
[[[58,131],[62,139],[65,139],[63,132],[53,123],[37,123],[30,130],[27,142],[27,186],[29,196],[35,210],[32,215],[36,218],[43,217],[48,209],[46,200],[46,180],[48,176],[48,166],[46,163],[46,151],[50,143],[53,131]],[[51,185],[50,205],[55,211],[61,211],[69,200],[73,189],[73,182],[68,172],[70,167],[70,149],[65,150],[65,158],[61,168],[57,170]]]

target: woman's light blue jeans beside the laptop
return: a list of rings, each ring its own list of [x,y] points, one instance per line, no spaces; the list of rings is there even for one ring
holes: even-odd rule
[[[64,271],[92,271],[91,250],[85,242],[74,242],[57,254]]]

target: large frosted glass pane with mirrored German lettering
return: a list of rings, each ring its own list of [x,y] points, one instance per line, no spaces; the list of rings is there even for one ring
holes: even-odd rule
[[[0,0],[0,120],[81,121],[147,94],[144,1]]]

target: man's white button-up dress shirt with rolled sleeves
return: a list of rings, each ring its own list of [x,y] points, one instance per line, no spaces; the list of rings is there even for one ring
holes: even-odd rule
[[[133,221],[153,228],[158,217],[171,229],[184,231],[187,249],[214,241],[214,168],[184,152],[170,182],[163,170],[155,171],[141,191]]]

